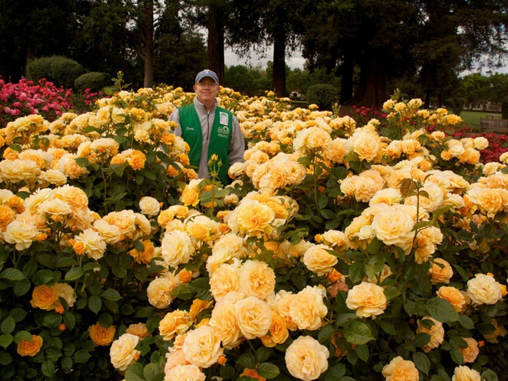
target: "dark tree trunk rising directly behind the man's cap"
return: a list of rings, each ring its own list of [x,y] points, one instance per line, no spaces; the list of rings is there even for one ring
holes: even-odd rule
[[[208,8],[208,68],[224,83],[224,9]]]

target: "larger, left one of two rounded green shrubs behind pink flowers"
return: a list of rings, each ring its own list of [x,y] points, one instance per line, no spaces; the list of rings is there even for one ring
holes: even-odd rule
[[[50,56],[28,63],[27,72],[28,78],[34,82],[46,78],[56,86],[72,88],[74,81],[83,74],[84,69],[80,63],[72,59],[64,56]]]

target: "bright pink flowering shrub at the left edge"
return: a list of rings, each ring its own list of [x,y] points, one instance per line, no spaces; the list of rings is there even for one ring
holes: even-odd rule
[[[40,114],[54,121],[63,112],[73,109],[71,95],[71,89],[58,88],[44,79],[37,84],[26,79],[19,83],[0,79],[0,125],[30,114]]]

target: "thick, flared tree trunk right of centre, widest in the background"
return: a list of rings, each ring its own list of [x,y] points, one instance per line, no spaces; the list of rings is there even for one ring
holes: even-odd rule
[[[360,84],[351,104],[381,107],[386,101],[386,73],[381,49],[367,48],[360,65]]]

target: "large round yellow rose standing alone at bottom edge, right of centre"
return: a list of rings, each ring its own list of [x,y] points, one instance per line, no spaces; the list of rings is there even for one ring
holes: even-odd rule
[[[310,336],[298,337],[286,349],[284,360],[293,377],[299,380],[315,380],[328,369],[329,351],[326,346]]]

